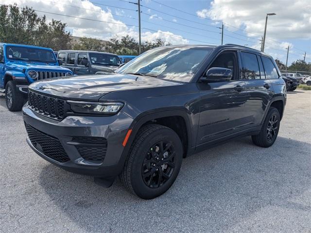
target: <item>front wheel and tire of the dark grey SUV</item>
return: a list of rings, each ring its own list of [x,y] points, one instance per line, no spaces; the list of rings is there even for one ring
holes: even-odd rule
[[[167,149],[168,153],[161,153],[161,142],[163,151]],[[182,143],[172,129],[146,125],[138,131],[131,146],[120,175],[121,182],[142,199],[156,198],[174,183],[182,158]]]

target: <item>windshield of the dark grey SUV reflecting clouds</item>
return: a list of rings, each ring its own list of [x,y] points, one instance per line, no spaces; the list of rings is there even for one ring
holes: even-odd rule
[[[207,47],[161,47],[141,54],[117,72],[190,82],[211,51]]]

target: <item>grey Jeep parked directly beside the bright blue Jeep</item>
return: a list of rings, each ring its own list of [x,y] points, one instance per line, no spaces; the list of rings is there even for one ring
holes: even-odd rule
[[[98,71],[112,73],[121,65],[118,55],[107,52],[60,50],[57,58],[61,66],[77,75],[95,74]]]

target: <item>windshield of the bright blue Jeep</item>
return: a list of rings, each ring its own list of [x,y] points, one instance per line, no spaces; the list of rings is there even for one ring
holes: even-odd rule
[[[37,48],[7,46],[6,57],[13,60],[37,61],[45,63],[55,63],[55,55],[52,50],[43,50]]]

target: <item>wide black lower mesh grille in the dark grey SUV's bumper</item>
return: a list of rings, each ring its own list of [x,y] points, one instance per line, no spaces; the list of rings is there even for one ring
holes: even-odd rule
[[[57,138],[36,130],[26,122],[25,127],[29,140],[37,150],[41,150],[44,155],[57,162],[65,163],[70,161],[66,151]]]

